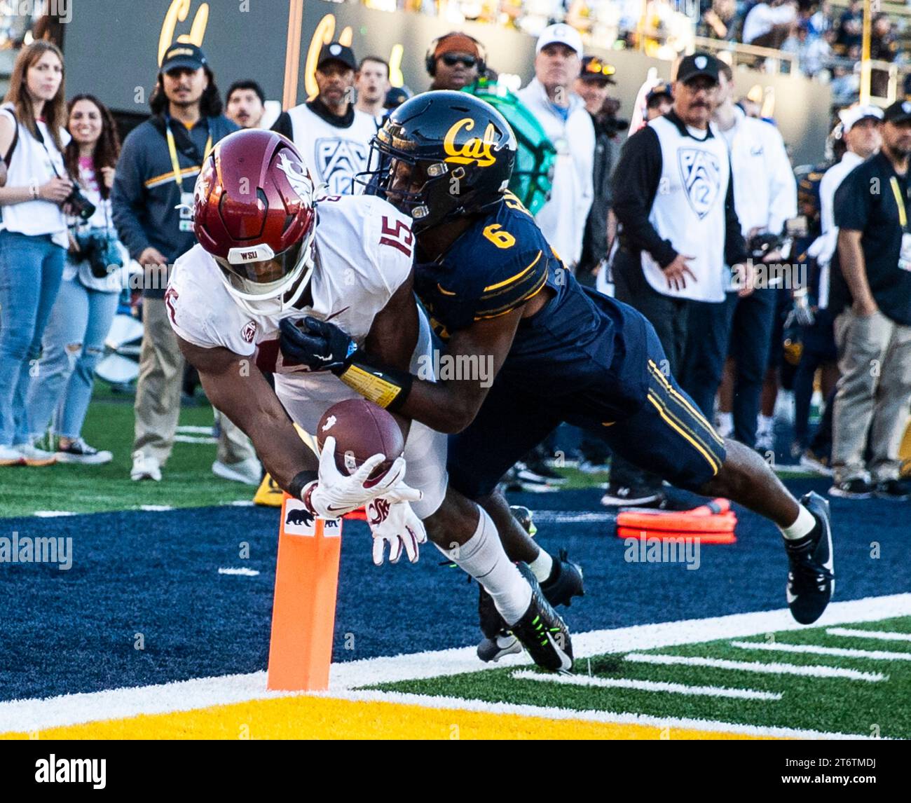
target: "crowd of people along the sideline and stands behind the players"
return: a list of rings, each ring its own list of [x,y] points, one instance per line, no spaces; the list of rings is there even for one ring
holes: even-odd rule
[[[548,4],[526,5],[537,16],[510,18],[537,35],[535,77],[515,95],[485,96],[496,64],[463,33],[429,43],[426,69],[431,90],[496,98],[517,131],[531,132],[520,158],[525,148],[540,180],[511,187],[566,267],[652,322],[670,363],[661,370],[722,435],[773,459],[775,413],[788,409],[776,396],[793,394],[792,462],[833,475],[835,495],[907,499],[898,451],[911,401],[911,102],[884,110],[851,105],[853,90],[838,95],[826,161],[795,173],[773,121],[735,97],[732,67],[697,52],[673,84],[643,87],[631,116],[641,125],[628,131],[612,97],[616,71],[585,55],[578,28],[594,35],[611,8],[617,37],[630,36],[641,4],[573,3],[568,22],[549,25],[537,25],[553,19],[537,7]],[[656,19],[662,5],[650,4]],[[858,7],[837,15],[827,3],[703,0],[701,33],[780,47],[807,75],[831,68],[837,82],[840,69],[855,76],[838,57],[859,56]],[[893,23],[876,17],[874,57],[902,58],[896,42]],[[316,97],[278,116],[255,76],[222,97],[216,69],[200,47],[171,46],[151,116],[121,146],[103,101],[82,93],[90,87],[67,95],[56,46],[21,50],[0,109],[0,466],[112,459],[81,430],[126,301],[143,326],[130,476],[160,480],[189,372],[169,326],[168,269],[194,243],[204,155],[239,128],[271,127],[325,192],[360,192],[371,139],[409,94],[391,86],[383,58],[339,42],[322,47]],[[686,162],[693,146],[698,161]],[[867,191],[874,181],[882,191]],[[213,472],[259,483],[246,435],[220,414],[215,430]],[[551,490],[564,482],[555,469],[597,472],[609,459],[598,439],[563,427],[507,482]],[[660,480],[614,460],[604,504],[663,497]]]

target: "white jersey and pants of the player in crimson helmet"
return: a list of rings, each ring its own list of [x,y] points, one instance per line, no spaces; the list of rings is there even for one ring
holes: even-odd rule
[[[275,374],[275,393],[292,420],[306,432],[330,406],[359,398],[331,371],[309,371],[285,361],[279,348],[279,321],[312,315],[332,320],[363,344],[376,314],[408,278],[414,235],[411,219],[382,198],[343,196],[317,204],[316,267],[311,277],[312,307],[279,315],[251,315],[233,300],[220,268],[200,245],[180,257],[171,272],[165,304],[171,327],[204,349],[222,347],[241,356],[255,354],[261,371]],[[415,302],[416,303],[416,302]],[[420,316],[411,370],[432,364],[430,326]],[[412,507],[425,518],[443,502],[447,483],[446,436],[412,422],[405,441],[406,482],[424,497]]]

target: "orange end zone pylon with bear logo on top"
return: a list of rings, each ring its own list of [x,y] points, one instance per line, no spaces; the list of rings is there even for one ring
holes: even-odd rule
[[[281,503],[267,686],[325,691],[333,657],[342,520],[321,519],[288,493]]]

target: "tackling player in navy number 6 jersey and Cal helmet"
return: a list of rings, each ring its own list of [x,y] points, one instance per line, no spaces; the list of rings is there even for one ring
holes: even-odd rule
[[[451,487],[490,513],[509,557],[528,564],[548,599],[581,594],[578,567],[539,549],[496,486],[569,422],[670,483],[771,519],[789,559],[793,617],[809,624],[822,615],[834,587],[828,503],[815,493],[798,502],[761,457],[723,441],[670,375],[650,323],[578,284],[507,191],[516,138],[496,109],[428,92],[398,107],[373,147],[377,167],[365,183],[414,220],[415,293],[448,371],[433,381],[377,366],[357,389],[450,434]],[[315,319],[283,327],[282,349],[336,373],[355,353],[343,330]],[[496,659],[516,645],[485,617],[489,607],[482,598],[479,654]]]

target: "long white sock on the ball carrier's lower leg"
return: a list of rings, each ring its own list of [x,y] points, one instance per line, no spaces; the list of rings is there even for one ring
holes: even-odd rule
[[[507,625],[515,625],[531,604],[531,586],[507,557],[493,519],[482,508],[478,511],[477,529],[465,544],[437,549],[483,585]]]

